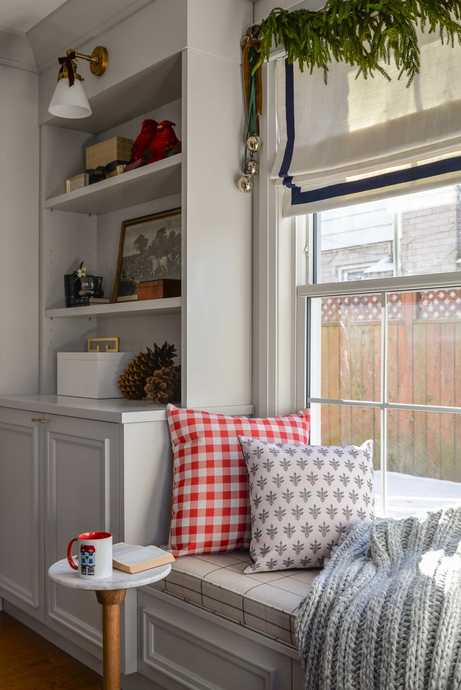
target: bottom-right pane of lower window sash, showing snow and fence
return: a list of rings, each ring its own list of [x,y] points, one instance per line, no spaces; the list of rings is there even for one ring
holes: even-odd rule
[[[409,410],[387,414],[387,514],[406,517],[459,503],[461,415]]]

